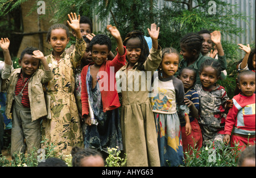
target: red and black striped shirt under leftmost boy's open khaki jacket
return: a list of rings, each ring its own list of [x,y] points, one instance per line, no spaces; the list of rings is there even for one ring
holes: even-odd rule
[[[23,74],[20,73],[17,84],[15,86],[15,96],[17,96],[22,91],[26,82],[30,79],[30,77],[25,77],[23,82],[23,78]],[[22,105],[24,107],[30,107],[30,98],[28,97],[28,84],[25,86],[22,92]]]

